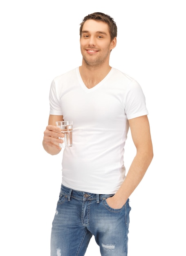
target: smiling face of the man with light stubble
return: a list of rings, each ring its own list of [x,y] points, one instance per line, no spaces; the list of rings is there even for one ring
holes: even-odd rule
[[[111,40],[108,24],[103,21],[86,20],[80,38],[83,63],[100,66],[109,63],[111,50],[116,46],[116,38]]]

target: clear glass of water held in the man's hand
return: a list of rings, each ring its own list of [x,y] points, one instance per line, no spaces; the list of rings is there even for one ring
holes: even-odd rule
[[[56,126],[62,129],[64,137],[59,137],[63,139],[63,143],[60,143],[61,148],[72,147],[72,130],[73,130],[73,121],[57,121]]]

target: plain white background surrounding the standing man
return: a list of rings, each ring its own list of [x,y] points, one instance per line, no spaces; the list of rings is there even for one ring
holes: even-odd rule
[[[55,76],[81,65],[79,24],[100,11],[118,27],[110,65],[136,79],[146,95],[154,146],[130,197],[128,256],[186,256],[184,2],[0,3],[0,255],[49,256],[62,158],[42,147],[49,88]],[[129,134],[127,168],[134,154]],[[100,255],[94,238],[85,255]]]

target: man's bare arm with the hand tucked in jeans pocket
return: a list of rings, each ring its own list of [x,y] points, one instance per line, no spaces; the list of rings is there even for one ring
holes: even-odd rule
[[[121,187],[112,198],[107,199],[110,207],[115,209],[119,209],[125,204],[126,200],[141,182],[153,158],[148,117],[142,116],[130,119],[129,124],[137,153],[123,184],[121,184]]]

